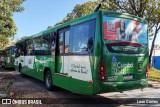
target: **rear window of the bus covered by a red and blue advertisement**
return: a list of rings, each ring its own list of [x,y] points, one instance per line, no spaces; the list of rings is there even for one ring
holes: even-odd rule
[[[148,44],[147,24],[137,20],[103,16],[104,39]]]

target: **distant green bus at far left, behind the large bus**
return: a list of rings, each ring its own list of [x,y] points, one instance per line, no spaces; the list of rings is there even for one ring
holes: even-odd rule
[[[14,57],[15,45],[5,47],[2,51],[2,67],[5,67],[5,69],[15,68]]]

